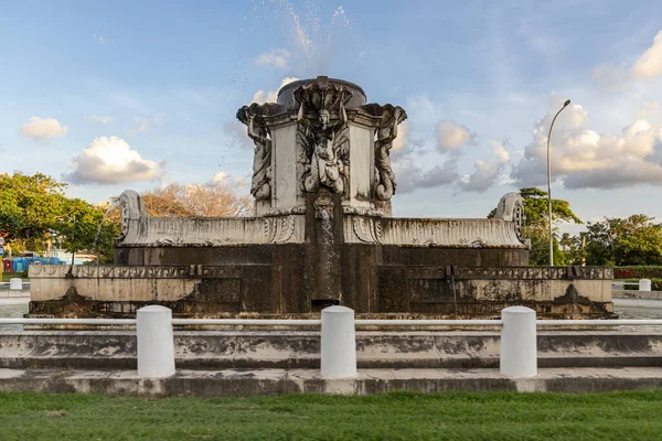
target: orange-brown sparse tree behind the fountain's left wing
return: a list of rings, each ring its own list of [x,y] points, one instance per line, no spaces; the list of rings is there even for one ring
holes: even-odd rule
[[[221,185],[169,184],[141,194],[152,216],[234,217],[250,213],[250,198]]]

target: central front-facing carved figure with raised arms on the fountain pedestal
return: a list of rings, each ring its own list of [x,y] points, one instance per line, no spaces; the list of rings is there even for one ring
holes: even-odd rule
[[[350,138],[345,87],[314,83],[295,93],[297,114],[297,171],[300,190],[313,193],[327,187],[344,193],[349,182]]]

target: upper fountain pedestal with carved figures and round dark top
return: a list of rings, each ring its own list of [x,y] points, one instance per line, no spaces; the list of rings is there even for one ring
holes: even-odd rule
[[[391,216],[388,154],[402,108],[369,105],[355,84],[318,77],[287,85],[277,104],[243,107],[237,118],[256,146],[257,216],[300,213],[320,189],[340,194],[345,209]]]

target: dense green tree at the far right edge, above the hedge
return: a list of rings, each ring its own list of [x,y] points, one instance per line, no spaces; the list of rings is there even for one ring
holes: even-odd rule
[[[588,265],[662,265],[662,225],[653,217],[634,214],[628,218],[607,217],[587,226]]]

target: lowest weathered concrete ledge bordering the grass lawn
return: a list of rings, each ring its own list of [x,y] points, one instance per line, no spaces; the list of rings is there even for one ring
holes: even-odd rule
[[[662,387],[659,368],[540,369],[506,378],[496,369],[360,369],[356,378],[322,379],[317,369],[179,370],[141,378],[136,370],[0,369],[0,390],[105,395],[242,397],[282,394],[372,395],[395,390],[592,392]]]

